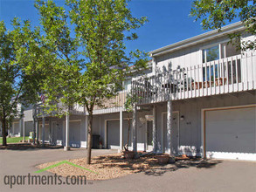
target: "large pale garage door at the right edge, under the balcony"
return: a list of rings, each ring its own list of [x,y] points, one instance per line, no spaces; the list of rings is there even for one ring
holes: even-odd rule
[[[255,107],[205,112],[207,157],[256,161]]]

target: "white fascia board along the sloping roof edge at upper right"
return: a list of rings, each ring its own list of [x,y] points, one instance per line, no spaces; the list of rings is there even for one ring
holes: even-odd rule
[[[156,49],[154,51],[149,51],[149,54],[151,57],[162,55],[164,53],[170,52],[170,51],[176,51],[178,49],[182,49],[184,47],[190,46],[190,45],[196,45],[198,43],[202,43],[205,40],[209,40],[212,38],[218,38],[227,34],[231,34],[235,31],[244,31],[246,27],[242,22],[237,22],[234,24],[229,24],[225,27],[221,28],[221,31],[213,30],[209,32],[205,32],[201,35],[195,36],[193,38],[187,38],[183,41],[177,42],[172,45],[167,45],[162,48]]]

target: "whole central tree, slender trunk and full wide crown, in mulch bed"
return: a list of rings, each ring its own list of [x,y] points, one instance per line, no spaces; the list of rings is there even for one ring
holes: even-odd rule
[[[91,162],[93,108],[114,97],[133,69],[148,63],[142,51],[126,53],[125,41],[137,38],[135,29],[146,22],[135,18],[127,0],[66,0],[67,7],[38,0],[45,32],[44,44],[56,55],[52,77],[45,82],[48,104],[55,98],[66,106],[79,102],[88,113],[87,163]],[[70,24],[69,24],[70,22]],[[55,100],[56,101],[56,100]]]

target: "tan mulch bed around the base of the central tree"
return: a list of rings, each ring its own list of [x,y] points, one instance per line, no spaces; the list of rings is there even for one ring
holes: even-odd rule
[[[86,175],[87,180],[108,180],[121,177],[124,175],[144,173],[145,175],[163,175],[166,172],[175,171],[178,168],[211,168],[216,165],[216,162],[203,162],[201,160],[191,159],[187,161],[177,161],[176,164],[159,165],[154,155],[143,156],[139,159],[122,159],[121,154],[107,154],[92,158],[90,165],[86,164],[86,158],[67,160],[79,165],[83,168],[88,168],[93,172],[75,168],[69,164],[62,164],[58,167],[48,169],[53,174],[67,175]],[[59,161],[47,162],[38,165],[37,168],[46,168]],[[96,172],[96,173],[95,173]]]

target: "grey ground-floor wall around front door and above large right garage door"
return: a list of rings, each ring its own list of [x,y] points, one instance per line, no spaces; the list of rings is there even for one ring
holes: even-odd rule
[[[201,99],[186,99],[173,102],[173,111],[184,116],[179,120],[179,154],[201,155],[202,154],[202,109],[221,106],[243,106],[256,104],[256,98],[249,93],[237,93],[235,95],[222,95],[216,97],[204,97]],[[161,144],[163,126],[161,113],[166,112],[167,104],[157,105],[156,117],[156,140],[157,150],[162,152]]]

